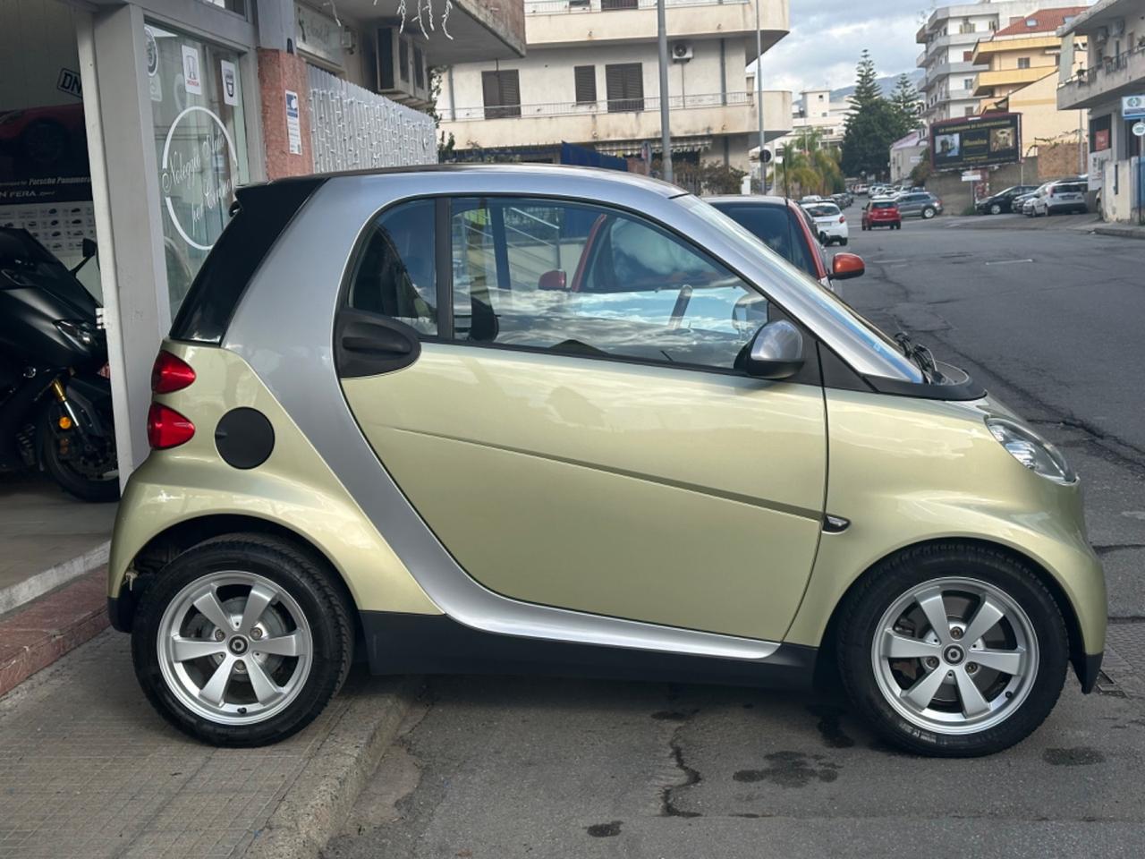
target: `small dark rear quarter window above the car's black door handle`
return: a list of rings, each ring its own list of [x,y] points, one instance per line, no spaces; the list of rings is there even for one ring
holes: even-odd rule
[[[413,200],[374,219],[350,275],[348,304],[437,333],[434,200]]]

